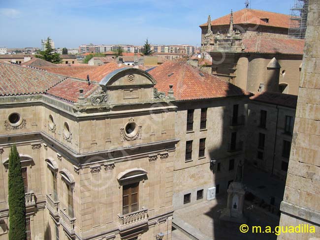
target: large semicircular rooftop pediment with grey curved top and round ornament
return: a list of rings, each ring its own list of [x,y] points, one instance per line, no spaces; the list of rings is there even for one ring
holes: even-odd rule
[[[148,72],[138,68],[120,68],[105,76],[99,83],[102,87],[130,85],[156,85],[157,81]]]

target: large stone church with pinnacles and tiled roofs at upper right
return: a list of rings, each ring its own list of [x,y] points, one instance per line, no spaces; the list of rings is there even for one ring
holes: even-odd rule
[[[256,92],[298,94],[304,40],[289,39],[290,16],[242,9],[200,25],[201,50],[212,57],[212,74]],[[279,63],[279,74],[269,63]],[[270,84],[272,83],[272,84]]]

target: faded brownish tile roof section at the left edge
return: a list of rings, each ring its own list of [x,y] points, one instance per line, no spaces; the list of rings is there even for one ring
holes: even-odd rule
[[[48,73],[11,63],[0,63],[0,95],[41,94],[65,79]]]

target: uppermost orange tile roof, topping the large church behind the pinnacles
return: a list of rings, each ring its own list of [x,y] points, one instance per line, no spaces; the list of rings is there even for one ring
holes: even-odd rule
[[[269,21],[266,23],[261,19],[269,19]],[[211,21],[212,26],[229,24],[230,14]],[[244,8],[233,13],[233,24],[255,24],[288,29],[290,24],[290,16],[281,13]],[[208,26],[208,23],[201,24],[199,27],[205,26]]]

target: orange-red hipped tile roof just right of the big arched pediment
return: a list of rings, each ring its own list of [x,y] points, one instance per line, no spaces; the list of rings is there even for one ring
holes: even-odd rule
[[[185,61],[167,61],[148,71],[157,81],[159,91],[168,92],[173,85],[176,100],[243,96],[249,92],[227,83],[220,78],[200,71]],[[202,76],[201,76],[201,75]]]

